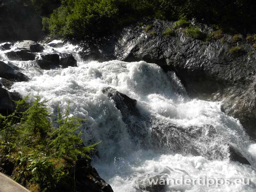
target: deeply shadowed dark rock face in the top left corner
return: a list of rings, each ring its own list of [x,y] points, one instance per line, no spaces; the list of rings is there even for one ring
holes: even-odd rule
[[[0,1],[0,42],[37,41],[42,35],[42,18],[32,7],[20,0]]]

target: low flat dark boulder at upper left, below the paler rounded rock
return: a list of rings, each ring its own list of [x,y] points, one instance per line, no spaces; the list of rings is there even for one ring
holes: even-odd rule
[[[26,50],[16,50],[5,53],[9,60],[29,61],[35,60],[36,54]]]

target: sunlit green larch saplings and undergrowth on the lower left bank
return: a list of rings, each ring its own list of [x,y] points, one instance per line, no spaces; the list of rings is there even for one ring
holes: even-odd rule
[[[9,116],[0,115],[0,163],[14,164],[12,177],[33,191],[56,191],[72,180],[69,169],[77,156],[88,156],[99,143],[85,147],[77,132],[80,119],[60,113],[54,127],[50,122],[47,100],[27,96],[17,102]],[[26,109],[20,112],[20,109]]]

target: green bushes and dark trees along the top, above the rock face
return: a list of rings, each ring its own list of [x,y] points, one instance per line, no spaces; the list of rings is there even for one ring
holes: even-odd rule
[[[32,0],[31,0],[32,1]],[[33,0],[36,6],[49,0]],[[57,0],[56,0],[57,1]],[[188,20],[221,26],[225,30],[253,28],[255,5],[245,0],[60,0],[61,6],[44,22],[55,36],[100,38],[142,17],[178,20],[174,28],[188,27]],[[47,4],[47,3],[43,3]],[[250,9],[248,9],[250,7]],[[41,8],[44,10],[44,8]],[[47,25],[49,24],[49,27]],[[216,34],[217,35],[217,34]],[[218,37],[217,37],[218,38]]]

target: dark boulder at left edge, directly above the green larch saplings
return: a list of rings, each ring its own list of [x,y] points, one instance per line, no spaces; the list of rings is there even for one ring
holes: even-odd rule
[[[16,108],[16,103],[14,101],[18,101],[20,99],[21,97],[19,93],[9,92],[0,87],[0,114],[4,116],[11,114]]]

